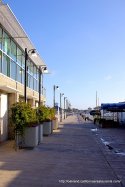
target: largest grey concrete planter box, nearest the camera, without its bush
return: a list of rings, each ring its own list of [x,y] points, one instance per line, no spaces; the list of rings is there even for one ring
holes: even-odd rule
[[[26,127],[24,132],[24,146],[35,147],[38,145],[38,126]]]

